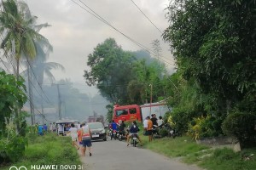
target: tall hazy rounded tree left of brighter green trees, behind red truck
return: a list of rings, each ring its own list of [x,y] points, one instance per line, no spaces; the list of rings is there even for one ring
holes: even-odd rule
[[[108,101],[124,105],[129,101],[127,85],[131,81],[131,53],[125,52],[113,38],[98,44],[88,56],[87,65],[91,71],[84,71],[88,85],[97,85]]]

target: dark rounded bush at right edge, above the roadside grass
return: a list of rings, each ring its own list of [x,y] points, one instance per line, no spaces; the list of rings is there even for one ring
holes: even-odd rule
[[[224,133],[235,136],[242,147],[256,144],[256,116],[236,111],[226,117],[222,128]]]

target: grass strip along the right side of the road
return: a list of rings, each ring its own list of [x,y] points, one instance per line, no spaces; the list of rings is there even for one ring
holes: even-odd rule
[[[142,132],[141,132],[142,133]],[[189,137],[163,138],[148,142],[148,137],[140,134],[143,147],[187,164],[195,164],[207,170],[256,170],[256,148],[235,153],[228,148],[196,144]]]

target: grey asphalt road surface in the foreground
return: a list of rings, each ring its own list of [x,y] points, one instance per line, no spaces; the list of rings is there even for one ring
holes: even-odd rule
[[[200,170],[119,140],[93,142],[91,152],[81,156],[86,170]]]

